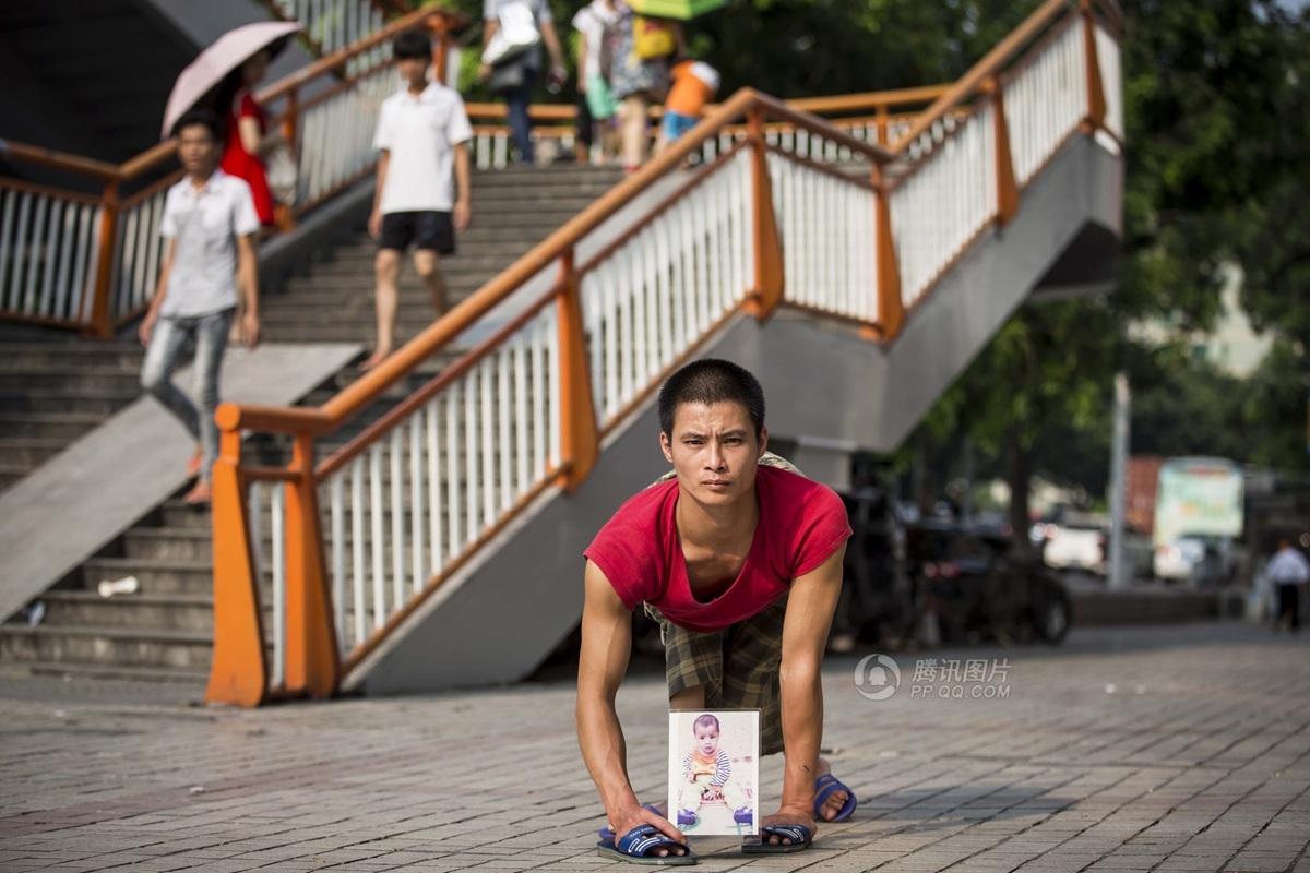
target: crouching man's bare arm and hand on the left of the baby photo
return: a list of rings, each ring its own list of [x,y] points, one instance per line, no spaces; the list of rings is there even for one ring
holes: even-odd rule
[[[578,742],[587,771],[620,835],[651,823],[673,839],[684,839],[668,821],[643,809],[627,780],[627,747],[614,712],[614,696],[627,673],[633,648],[633,615],[614,593],[605,573],[587,561],[583,580],[582,650],[578,656]]]

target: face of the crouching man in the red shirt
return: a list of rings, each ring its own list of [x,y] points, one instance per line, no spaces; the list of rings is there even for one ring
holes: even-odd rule
[[[726,507],[751,493],[768,440],[768,432],[756,440],[740,403],[680,403],[673,433],[660,433],[660,448],[684,493],[703,505]]]

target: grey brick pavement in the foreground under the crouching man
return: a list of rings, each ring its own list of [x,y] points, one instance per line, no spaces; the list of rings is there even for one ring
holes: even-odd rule
[[[1310,873],[1307,656],[1239,623],[1076,630],[1057,649],[896,654],[887,700],[831,661],[824,743],[859,811],[779,857],[702,838],[701,866]],[[620,695],[646,800],[662,692],[647,674]],[[0,738],[0,870],[622,869],[593,853],[566,683],[244,712],[9,677]],[[766,800],[778,776],[766,760]]]

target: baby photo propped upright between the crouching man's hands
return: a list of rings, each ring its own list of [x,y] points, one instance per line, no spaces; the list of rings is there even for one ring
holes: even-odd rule
[[[760,711],[668,713],[668,818],[688,836],[760,832]]]

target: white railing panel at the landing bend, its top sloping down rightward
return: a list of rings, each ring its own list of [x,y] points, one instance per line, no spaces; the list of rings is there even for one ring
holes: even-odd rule
[[[865,179],[770,152],[787,301],[862,322],[878,321],[876,192]]]

